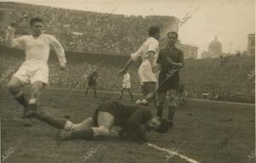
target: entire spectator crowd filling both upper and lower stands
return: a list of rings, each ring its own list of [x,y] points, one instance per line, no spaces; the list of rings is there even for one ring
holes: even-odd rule
[[[134,53],[148,36],[150,25],[157,24],[162,28],[172,19],[170,16],[102,14],[22,3],[1,3],[0,8],[0,44],[4,43],[7,25],[26,11],[27,19],[21,22],[17,35],[27,34],[28,20],[40,16],[44,20],[45,32],[55,36],[66,51],[102,54]],[[11,57],[8,53],[0,56],[1,76],[13,63],[20,63],[20,57]],[[232,56],[224,63],[221,60],[185,60],[181,79],[190,97],[201,98],[202,93],[209,93],[208,98],[225,100],[247,80],[249,71],[254,70],[253,56]],[[92,64],[89,61],[72,61],[68,63],[67,70],[60,71],[54,62],[49,61],[49,86],[85,88],[86,81],[83,81],[82,76]],[[122,77],[115,82],[113,78],[116,78],[120,67],[119,63],[104,63],[99,66],[97,89],[119,91]],[[139,92],[136,68],[131,68],[129,73],[131,91]],[[8,80],[8,77],[4,77],[3,82]],[[254,102],[254,82],[254,78],[248,81],[230,100]]]

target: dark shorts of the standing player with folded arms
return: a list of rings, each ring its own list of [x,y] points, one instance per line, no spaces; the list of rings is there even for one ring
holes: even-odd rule
[[[179,75],[168,76],[165,72],[160,72],[157,93],[166,93],[170,89],[178,91]]]

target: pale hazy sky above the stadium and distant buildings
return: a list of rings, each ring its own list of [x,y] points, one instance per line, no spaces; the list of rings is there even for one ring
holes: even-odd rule
[[[207,50],[214,36],[222,42],[224,53],[247,49],[247,34],[255,33],[254,0],[20,0],[42,4],[114,14],[158,14],[183,18],[192,15],[179,29],[181,42],[195,44],[199,54]],[[231,43],[230,43],[231,42]],[[230,46],[231,45],[231,46]]]

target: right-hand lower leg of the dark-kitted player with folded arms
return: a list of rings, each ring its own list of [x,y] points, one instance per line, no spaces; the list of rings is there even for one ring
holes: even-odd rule
[[[169,104],[168,104],[168,120],[173,121],[175,111],[177,108],[177,104],[175,102],[177,91],[175,89],[171,89],[169,91]]]

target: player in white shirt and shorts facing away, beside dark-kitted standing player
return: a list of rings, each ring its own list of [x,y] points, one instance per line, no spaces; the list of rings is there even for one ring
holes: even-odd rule
[[[132,61],[141,61],[142,64],[138,70],[139,80],[141,82],[143,97],[137,100],[137,104],[148,104],[155,98],[156,82],[158,66],[156,60],[159,53],[160,27],[151,26],[148,29],[149,38],[143,42],[141,48],[136,53],[131,54],[131,59],[127,61],[124,69],[119,70],[119,74],[123,75]]]

